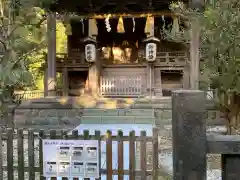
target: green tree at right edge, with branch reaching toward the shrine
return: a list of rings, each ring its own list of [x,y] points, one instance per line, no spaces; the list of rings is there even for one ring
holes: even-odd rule
[[[208,86],[216,89],[216,105],[226,114],[231,128],[240,128],[240,1],[207,2],[204,13],[181,11],[190,22],[201,28],[201,71]],[[192,23],[193,24],[193,23]],[[189,26],[168,39],[189,42]],[[232,131],[231,131],[232,132]]]

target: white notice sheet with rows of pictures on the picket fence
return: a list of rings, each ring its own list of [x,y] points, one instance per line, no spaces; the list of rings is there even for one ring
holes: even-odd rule
[[[45,177],[99,177],[97,140],[43,140]]]

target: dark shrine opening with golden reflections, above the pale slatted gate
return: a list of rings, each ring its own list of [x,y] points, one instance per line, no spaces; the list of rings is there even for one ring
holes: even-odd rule
[[[103,64],[138,63],[138,52],[146,38],[145,24],[146,18],[97,19],[97,42]]]

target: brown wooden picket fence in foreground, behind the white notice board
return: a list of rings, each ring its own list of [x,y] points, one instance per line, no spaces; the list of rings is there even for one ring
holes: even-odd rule
[[[40,173],[40,179],[45,180],[43,176],[43,146],[42,139],[96,139],[106,142],[106,169],[100,169],[101,175],[106,175],[107,180],[112,180],[113,175],[118,175],[118,180],[123,180],[124,175],[128,175],[129,179],[135,180],[136,177],[140,177],[141,180],[146,180],[147,177],[152,176],[153,179],[157,179],[159,174],[162,174],[158,167],[158,131],[154,129],[153,136],[147,137],[146,132],[142,131],[140,136],[135,136],[135,132],[132,131],[129,133],[129,136],[123,136],[123,132],[119,131],[117,136],[112,136],[112,132],[108,131],[106,135],[100,135],[100,131],[95,131],[95,135],[89,135],[89,131],[84,131],[83,135],[79,135],[77,130],[72,131],[72,134],[69,135],[67,132],[62,131],[61,133],[57,133],[56,130],[49,131],[49,134],[46,134],[43,130],[39,133],[34,133],[32,130],[28,130],[27,133],[22,129],[14,131],[10,128],[6,130],[6,132],[2,132],[2,136],[0,136],[0,144],[3,144],[4,141],[7,145],[7,157],[3,158],[4,150],[3,147],[0,146],[0,166],[3,167],[0,169],[0,179],[4,179],[4,171],[7,171],[7,180],[16,179],[14,177],[14,171],[17,171],[18,180],[26,180],[24,172],[28,173],[27,179],[35,180],[35,173]],[[27,145],[24,143],[27,140]],[[35,140],[39,140],[39,151],[36,159],[36,142]],[[16,143],[14,143],[16,141]],[[113,169],[112,164],[112,142],[117,141],[117,150],[118,150],[118,169]],[[129,170],[124,169],[124,142],[129,142]],[[136,170],[136,145],[135,142],[140,142],[140,167],[141,170]],[[147,168],[147,143],[152,143],[152,170],[148,170]],[[13,147],[14,144],[16,147]],[[27,149],[24,148],[27,146]],[[14,152],[14,149],[17,149]],[[101,143],[99,143],[100,149],[100,160],[101,160]],[[26,154],[27,151],[27,154]],[[17,156],[17,163],[14,163],[14,156]],[[26,167],[24,160],[28,159],[28,165]],[[7,161],[6,165],[4,165],[4,159]],[[35,161],[39,161],[39,165],[35,167]],[[101,166],[101,161],[100,161]],[[56,179],[56,178],[52,178]],[[63,178],[66,180],[67,178]],[[78,180],[78,178],[74,178],[74,180]]]

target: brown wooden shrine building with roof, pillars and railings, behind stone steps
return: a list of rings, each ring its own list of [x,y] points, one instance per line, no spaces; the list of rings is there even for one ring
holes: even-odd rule
[[[86,92],[111,97],[165,96],[171,89],[190,88],[189,47],[164,40],[164,27],[171,31],[182,26],[169,5],[169,0],[58,0],[48,15],[45,92],[55,95],[57,72],[62,77],[61,91],[69,96]],[[67,53],[57,55],[56,14],[61,11],[81,18],[70,18]],[[144,40],[153,36],[160,42],[156,60],[149,63]],[[83,39],[87,37],[96,41],[92,63],[85,56]]]

